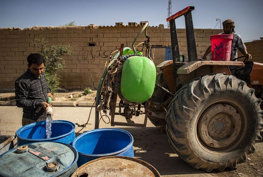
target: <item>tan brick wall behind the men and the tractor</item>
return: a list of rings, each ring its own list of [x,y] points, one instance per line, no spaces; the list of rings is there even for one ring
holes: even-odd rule
[[[48,46],[58,44],[73,46],[73,54],[63,56],[66,61],[66,67],[61,73],[63,87],[66,89],[84,89],[87,86],[96,88],[107,56],[111,51],[118,49],[121,43],[131,48],[134,36],[140,29],[141,26],[62,26],[33,27],[23,30],[1,28],[0,91],[14,88],[14,81],[26,71],[26,57],[30,53],[38,52],[38,48],[31,42],[35,38],[45,38]],[[210,36],[220,32],[220,29],[195,29],[198,58],[201,58],[210,45]],[[151,44],[171,45],[170,31],[163,28],[163,25],[148,27],[147,33],[151,37]],[[180,54],[187,56],[185,29],[177,29],[177,33]],[[141,34],[135,45],[144,40],[146,38],[144,34]],[[247,47],[249,50],[249,46]],[[262,48],[256,50],[262,51]],[[154,59],[156,65],[164,61],[165,49],[155,49]]]

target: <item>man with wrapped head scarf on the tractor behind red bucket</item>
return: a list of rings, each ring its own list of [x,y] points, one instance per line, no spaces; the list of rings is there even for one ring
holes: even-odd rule
[[[234,39],[232,41],[232,47],[231,47],[231,57],[230,61],[237,61],[235,60],[237,58],[237,49],[243,54],[245,57],[248,57],[248,59],[252,59],[252,56],[247,53],[247,48],[242,41],[241,37],[235,33],[235,22],[231,19],[227,19],[223,21],[223,30],[224,32],[220,34],[232,34],[234,35]],[[206,60],[206,56],[211,52],[211,46],[208,47],[208,49],[205,51],[205,54],[203,56],[203,59]]]

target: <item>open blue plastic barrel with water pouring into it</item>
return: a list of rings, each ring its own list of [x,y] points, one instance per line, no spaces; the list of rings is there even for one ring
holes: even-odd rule
[[[47,138],[46,122],[35,122],[19,128],[16,131],[17,146],[39,141],[55,141],[72,145],[76,138],[75,124],[70,121],[53,121],[51,136]]]

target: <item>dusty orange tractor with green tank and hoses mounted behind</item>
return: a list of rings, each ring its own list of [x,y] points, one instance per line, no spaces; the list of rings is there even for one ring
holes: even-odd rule
[[[255,151],[262,141],[263,64],[253,61],[198,60],[193,6],[177,12],[170,23],[173,60],[156,67],[150,55],[148,22],[135,36],[132,49],[123,44],[109,56],[101,77],[95,102],[95,128],[101,111],[109,113],[112,126],[146,127],[147,118],[165,128],[173,150],[188,165],[206,172],[235,169]],[[188,62],[180,55],[175,19],[185,17]],[[136,51],[134,43],[144,32],[146,55]],[[233,66],[235,72],[230,72]],[[119,96],[119,111],[116,111]],[[141,110],[141,106],[144,110]],[[145,114],[144,123],[133,116]],[[114,121],[115,115],[126,122]]]

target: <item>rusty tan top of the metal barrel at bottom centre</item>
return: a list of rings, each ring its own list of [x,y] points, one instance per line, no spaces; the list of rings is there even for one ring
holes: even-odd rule
[[[80,166],[71,177],[87,176],[149,176],[158,177],[159,172],[149,163],[126,156],[97,158]]]

